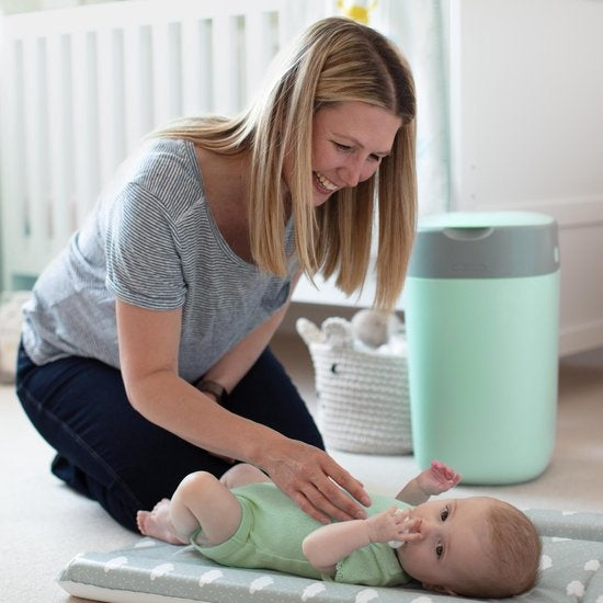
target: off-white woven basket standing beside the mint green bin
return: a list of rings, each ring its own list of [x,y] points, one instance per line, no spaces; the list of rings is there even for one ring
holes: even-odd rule
[[[309,321],[300,321],[305,323],[298,321],[297,330],[312,359],[317,423],[326,445],[353,453],[411,453],[406,356],[356,350],[351,339],[320,341],[320,331],[315,327],[308,337]]]

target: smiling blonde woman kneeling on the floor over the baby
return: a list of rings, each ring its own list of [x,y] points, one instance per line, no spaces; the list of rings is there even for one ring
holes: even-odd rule
[[[368,496],[268,345],[302,273],[362,287],[376,209],[376,304],[394,306],[414,230],[414,106],[390,43],[332,18],[248,112],[155,133],[24,310],[18,392],[57,477],[130,530],[185,475],[232,459],[316,520],[365,516],[344,491]]]

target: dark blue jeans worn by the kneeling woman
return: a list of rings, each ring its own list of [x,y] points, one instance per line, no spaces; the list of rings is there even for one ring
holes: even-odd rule
[[[138,509],[170,498],[185,475],[203,469],[219,477],[230,467],[147,421],[128,402],[121,372],[99,361],[72,356],[37,366],[21,348],[16,392],[57,451],[53,473],[129,530],[136,531]],[[227,408],[323,448],[304,400],[268,348]]]

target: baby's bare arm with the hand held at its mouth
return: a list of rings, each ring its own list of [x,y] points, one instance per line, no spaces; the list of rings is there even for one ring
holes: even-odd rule
[[[323,525],[304,538],[304,555],[317,571],[332,576],[337,564],[357,548],[372,543],[420,539],[421,534],[413,532],[417,521],[406,521],[408,513],[398,511],[398,507],[391,507],[366,520]]]

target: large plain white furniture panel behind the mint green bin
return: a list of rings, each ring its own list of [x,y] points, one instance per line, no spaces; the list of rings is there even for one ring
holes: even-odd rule
[[[453,206],[554,216],[560,353],[603,345],[603,2],[451,0]]]

